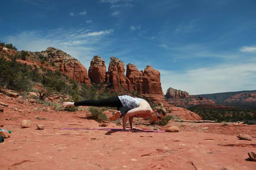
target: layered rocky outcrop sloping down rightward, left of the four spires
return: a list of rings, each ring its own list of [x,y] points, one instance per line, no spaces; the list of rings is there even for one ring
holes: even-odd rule
[[[39,53],[39,55],[48,58],[49,62],[53,62],[56,68],[62,73],[65,73],[70,79],[91,86],[91,80],[88,77],[87,69],[80,63],[80,61],[74,59],[66,52],[53,47],[48,47],[46,51],[41,51]]]

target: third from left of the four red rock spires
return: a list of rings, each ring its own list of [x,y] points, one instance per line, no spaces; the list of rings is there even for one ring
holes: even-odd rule
[[[139,71],[137,67],[133,64],[127,64],[126,67],[126,77],[130,80],[131,88],[143,93],[143,71]]]

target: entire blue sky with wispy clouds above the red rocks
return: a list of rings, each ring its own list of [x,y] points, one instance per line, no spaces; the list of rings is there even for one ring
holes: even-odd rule
[[[0,41],[152,65],[191,95],[256,90],[255,0],[1,0]]]

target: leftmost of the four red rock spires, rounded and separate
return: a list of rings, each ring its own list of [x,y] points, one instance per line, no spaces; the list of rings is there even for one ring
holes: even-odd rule
[[[88,76],[94,83],[102,83],[106,79],[105,61],[100,56],[94,56],[88,70]]]

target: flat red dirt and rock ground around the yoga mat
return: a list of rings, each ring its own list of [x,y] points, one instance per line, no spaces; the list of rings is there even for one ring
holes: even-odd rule
[[[248,152],[256,152],[256,125],[191,123],[170,121],[178,133],[108,132],[102,130],[59,130],[58,128],[105,128],[86,119],[86,111],[55,111],[42,104],[0,95],[0,124],[12,130],[0,143],[0,169],[92,169],[92,170],[255,170]],[[20,109],[21,112],[14,109]],[[40,109],[39,109],[40,108]],[[29,113],[30,112],[30,113]],[[37,120],[36,117],[46,118]],[[10,120],[6,120],[10,119]],[[23,119],[31,127],[21,128]],[[136,123],[136,122],[134,122]],[[151,129],[142,121],[138,127]],[[37,130],[43,124],[44,130]],[[136,125],[135,125],[136,126]],[[208,127],[203,130],[202,127]],[[108,123],[106,128],[122,128]],[[157,128],[157,127],[154,127]],[[252,141],[236,135],[252,136]],[[226,145],[226,146],[223,146]]]

